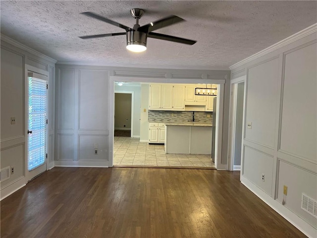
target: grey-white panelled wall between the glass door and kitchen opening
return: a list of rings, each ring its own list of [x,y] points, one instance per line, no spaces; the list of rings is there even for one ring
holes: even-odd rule
[[[55,166],[107,167],[109,71],[58,66],[56,76]]]

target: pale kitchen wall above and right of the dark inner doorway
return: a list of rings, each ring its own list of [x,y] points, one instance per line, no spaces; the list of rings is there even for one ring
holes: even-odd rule
[[[134,95],[133,103],[133,137],[140,136],[140,107],[141,107],[141,85],[114,86],[114,91],[131,91]]]

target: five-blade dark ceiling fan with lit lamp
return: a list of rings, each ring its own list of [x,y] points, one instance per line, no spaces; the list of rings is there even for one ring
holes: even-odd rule
[[[189,40],[189,39],[184,39],[180,37],[175,37],[175,36],[169,36],[169,35],[164,35],[164,34],[159,34],[155,33],[153,31],[158,30],[160,28],[163,28],[165,26],[170,26],[172,24],[185,21],[184,19],[171,15],[165,18],[162,18],[160,20],[150,22],[147,25],[140,26],[139,25],[139,19],[142,17],[144,14],[143,9],[139,8],[133,8],[130,10],[131,15],[135,18],[136,23],[133,26],[133,28],[127,27],[125,25],[122,25],[118,22],[112,21],[104,16],[98,15],[94,12],[87,11],[87,12],[82,12],[81,14],[84,14],[86,16],[93,17],[95,19],[104,21],[106,23],[109,23],[114,26],[118,26],[122,29],[124,29],[126,32],[119,32],[119,33],[109,33],[109,34],[101,34],[101,35],[91,35],[91,36],[80,36],[81,39],[92,39],[92,38],[99,38],[99,37],[106,37],[106,36],[119,36],[119,35],[126,35],[127,38],[127,49],[129,51],[133,52],[143,52],[147,49],[147,38],[156,38],[160,40],[165,40],[165,41],[172,41],[172,42],[177,42],[177,43],[182,43],[182,44],[187,44],[187,45],[194,45],[197,41]]]

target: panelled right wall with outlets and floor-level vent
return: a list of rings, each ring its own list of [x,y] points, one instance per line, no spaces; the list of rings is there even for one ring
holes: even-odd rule
[[[312,237],[317,219],[301,196],[317,200],[316,28],[231,67],[232,79],[247,75],[241,181]]]

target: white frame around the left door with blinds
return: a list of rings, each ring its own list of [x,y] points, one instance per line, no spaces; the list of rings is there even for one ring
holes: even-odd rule
[[[30,181],[31,179],[37,177],[38,175],[42,174],[43,172],[48,170],[48,158],[45,159],[45,170],[41,170],[41,172],[39,174],[36,173],[36,169],[31,170],[29,172],[28,170],[28,116],[29,116],[29,110],[28,110],[28,106],[29,106],[29,86],[28,86],[28,72],[33,72],[35,74],[38,74],[39,76],[44,76],[46,77],[47,84],[49,84],[49,79],[50,79],[50,72],[45,71],[43,69],[40,68],[36,68],[34,66],[25,64],[25,86],[24,86],[24,95],[25,95],[25,105],[24,105],[24,116],[25,116],[25,125],[24,125],[24,135],[25,135],[25,161],[24,161],[24,173],[25,173],[25,182],[27,183],[28,181]],[[42,79],[42,78],[40,78]],[[50,105],[50,98],[49,98],[49,91],[47,91],[47,118],[49,119],[49,105]],[[48,154],[48,146],[49,146],[49,125],[47,124],[46,127],[46,154]]]

